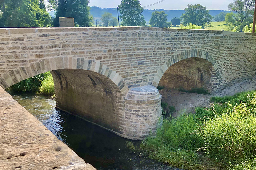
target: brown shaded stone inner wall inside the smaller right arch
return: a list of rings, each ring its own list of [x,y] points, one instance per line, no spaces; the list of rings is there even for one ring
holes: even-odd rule
[[[165,71],[159,86],[170,89],[192,90],[203,88],[211,92],[212,64],[202,58],[187,58],[174,63]]]

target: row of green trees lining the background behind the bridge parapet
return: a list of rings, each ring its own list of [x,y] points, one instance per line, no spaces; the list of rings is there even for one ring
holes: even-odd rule
[[[59,27],[59,17],[73,17],[75,26],[92,26],[94,21],[89,12],[89,2],[89,0],[0,0],[0,27]],[[139,0],[121,0],[118,8],[121,26],[146,26],[142,15],[144,9]],[[56,17],[52,18],[47,9],[54,9]],[[183,28],[191,25],[204,28],[214,19],[225,21],[233,31],[250,30],[254,0],[234,0],[228,5],[228,9],[232,12],[221,12],[213,18],[203,5],[189,4],[185,8],[185,13],[180,18],[172,18],[171,22],[167,21],[167,14],[164,11],[154,11],[149,25],[167,28],[171,25],[179,26],[181,23]],[[97,25],[117,26],[118,20],[111,13],[106,12]]]

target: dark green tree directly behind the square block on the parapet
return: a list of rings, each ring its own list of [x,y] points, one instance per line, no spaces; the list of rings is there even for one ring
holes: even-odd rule
[[[59,0],[54,18],[54,27],[59,27],[59,17],[73,17],[76,26],[91,26],[93,17],[90,15],[89,0]]]

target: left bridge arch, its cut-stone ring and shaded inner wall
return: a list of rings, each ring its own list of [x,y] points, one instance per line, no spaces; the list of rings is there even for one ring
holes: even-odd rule
[[[77,115],[120,136],[124,132],[123,78],[95,60],[54,57],[9,71],[1,84],[8,88],[22,80],[51,71],[56,108]]]

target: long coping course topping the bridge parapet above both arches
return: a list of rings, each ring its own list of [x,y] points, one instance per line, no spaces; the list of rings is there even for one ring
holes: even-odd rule
[[[256,36],[256,33],[242,33],[221,30],[198,30],[198,29],[173,29],[173,28],[155,28],[155,27],[72,27],[72,28],[0,28],[0,34],[26,34],[26,33],[44,33],[44,32],[82,32],[82,31],[163,31],[163,32],[186,32],[186,33],[214,33],[225,35],[251,35]]]

